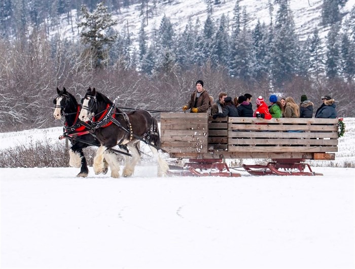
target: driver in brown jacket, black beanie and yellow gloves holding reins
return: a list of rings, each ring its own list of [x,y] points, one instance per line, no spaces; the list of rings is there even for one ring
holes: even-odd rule
[[[183,107],[186,111],[190,109],[192,113],[207,112],[210,105],[210,99],[207,91],[203,88],[203,81],[196,81],[196,90],[191,94],[189,103]]]

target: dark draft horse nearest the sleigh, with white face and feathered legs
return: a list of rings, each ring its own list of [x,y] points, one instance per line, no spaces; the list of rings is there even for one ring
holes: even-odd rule
[[[79,118],[83,121],[91,120],[95,136],[101,143],[93,163],[96,175],[104,170],[105,159],[111,169],[111,177],[120,177],[120,165],[116,155],[108,150],[116,145],[126,145],[131,151],[131,159],[124,156],[125,166],[122,174],[125,177],[133,175],[134,167],[140,159],[137,148],[140,139],[148,143],[158,161],[158,176],[166,175],[169,166],[160,157],[156,148],[160,147],[160,135],[157,120],[152,114],[146,110],[136,110],[126,114],[95,88],[87,90],[82,103]]]

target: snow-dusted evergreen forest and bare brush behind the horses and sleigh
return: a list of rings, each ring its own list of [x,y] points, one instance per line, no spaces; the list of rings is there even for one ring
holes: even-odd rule
[[[301,40],[290,0],[265,1],[269,24],[251,26],[241,0],[233,0],[233,16],[214,14],[226,1],[201,0],[204,21],[190,16],[181,30],[164,15],[148,32],[159,7],[178,0],[2,0],[0,126],[61,125],[52,116],[57,87],[78,100],[95,87],[119,96],[121,107],[181,110],[199,79],[215,99],[221,91],[296,102],[306,94],[317,108],[331,95],[339,117],[355,117],[355,6],[345,21],[340,11],[348,0],[323,0],[321,23]],[[133,6],[141,20],[135,35],[128,21],[115,19]],[[62,23],[72,36],[61,35]]]

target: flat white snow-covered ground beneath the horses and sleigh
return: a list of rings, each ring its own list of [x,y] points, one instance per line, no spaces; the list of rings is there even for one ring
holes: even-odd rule
[[[338,161],[354,162],[346,118]],[[0,133],[0,149],[61,128]],[[62,142],[64,143],[64,142]],[[77,178],[75,168],[0,169],[1,268],[354,268],[355,169],[324,176]]]

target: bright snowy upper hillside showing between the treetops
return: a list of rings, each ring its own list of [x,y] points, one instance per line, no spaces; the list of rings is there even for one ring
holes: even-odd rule
[[[248,16],[250,17],[250,27],[254,27],[258,19],[261,23],[270,23],[270,11],[268,6],[269,0],[241,0],[240,8],[245,7]],[[235,7],[235,0],[223,0],[223,5],[212,5],[212,16],[215,20],[219,19],[222,14],[225,14],[229,19],[233,18],[233,9]],[[273,1],[271,1],[273,3]],[[319,36],[324,38],[329,30],[328,27],[321,25],[321,13],[322,13],[323,0],[290,0],[290,8],[293,13],[293,19],[296,26],[296,33],[298,33],[300,40],[305,40],[308,35],[311,35],[315,27],[319,29]],[[348,0],[345,7],[340,9],[343,15],[342,21],[345,22],[349,19],[349,13],[355,0]],[[159,2],[157,4],[156,13],[151,15],[148,20],[146,32],[148,35],[152,34],[153,28],[159,28],[162,17],[165,15],[169,17],[171,23],[175,25],[176,30],[184,30],[187,21],[191,18],[195,21],[197,18],[200,23],[206,20],[207,17],[207,5],[204,0],[185,0],[174,1],[169,4],[167,2]],[[273,20],[275,20],[277,7],[273,5]],[[117,19],[118,25],[116,29],[121,32],[127,31],[127,26],[133,40],[136,40],[141,26],[143,16],[140,14],[140,4],[131,5],[129,8],[121,8],[121,14],[114,14],[114,18]],[[72,31],[72,25],[68,25],[66,19],[63,18],[62,29],[59,30],[60,34],[69,38],[78,38],[78,32]],[[74,25],[74,29],[76,29]],[[54,33],[54,32],[53,32]],[[56,32],[58,33],[58,31]]]

